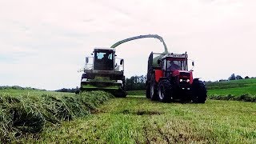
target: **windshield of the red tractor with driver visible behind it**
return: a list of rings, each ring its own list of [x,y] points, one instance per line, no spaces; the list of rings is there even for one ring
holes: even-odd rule
[[[178,59],[168,59],[167,60],[167,70],[174,71],[174,70],[188,70],[187,62],[185,58],[178,58]]]

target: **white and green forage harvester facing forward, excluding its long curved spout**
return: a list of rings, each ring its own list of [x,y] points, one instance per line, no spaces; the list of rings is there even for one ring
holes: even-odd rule
[[[80,90],[105,90],[116,97],[126,97],[124,61],[112,48],[95,48],[86,57]]]

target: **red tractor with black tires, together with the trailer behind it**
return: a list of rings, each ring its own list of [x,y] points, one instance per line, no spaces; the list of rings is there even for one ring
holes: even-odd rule
[[[146,98],[160,102],[206,102],[206,85],[193,79],[187,54],[151,53],[148,60]],[[194,62],[192,62],[194,66]]]

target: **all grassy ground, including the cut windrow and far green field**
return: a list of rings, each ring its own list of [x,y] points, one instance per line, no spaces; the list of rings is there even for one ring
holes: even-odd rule
[[[144,90],[130,91],[128,98],[112,98],[104,105],[99,103],[108,98],[102,100],[102,93],[95,98],[95,94],[77,97],[42,90],[0,90],[0,140],[18,143],[255,143],[255,84],[256,79],[207,83],[205,104],[151,102],[145,98]],[[38,122],[40,129],[34,127],[37,132],[33,133],[33,127],[22,122],[18,123],[23,125],[14,125],[16,121],[10,121],[14,113],[10,110],[18,110],[18,120]],[[54,113],[47,116],[48,110]],[[32,131],[26,133],[27,130]]]

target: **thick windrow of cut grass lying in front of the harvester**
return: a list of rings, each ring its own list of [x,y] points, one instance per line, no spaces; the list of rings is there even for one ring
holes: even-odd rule
[[[47,125],[86,116],[113,95],[103,91],[82,94],[0,94],[0,142],[36,134]]]

